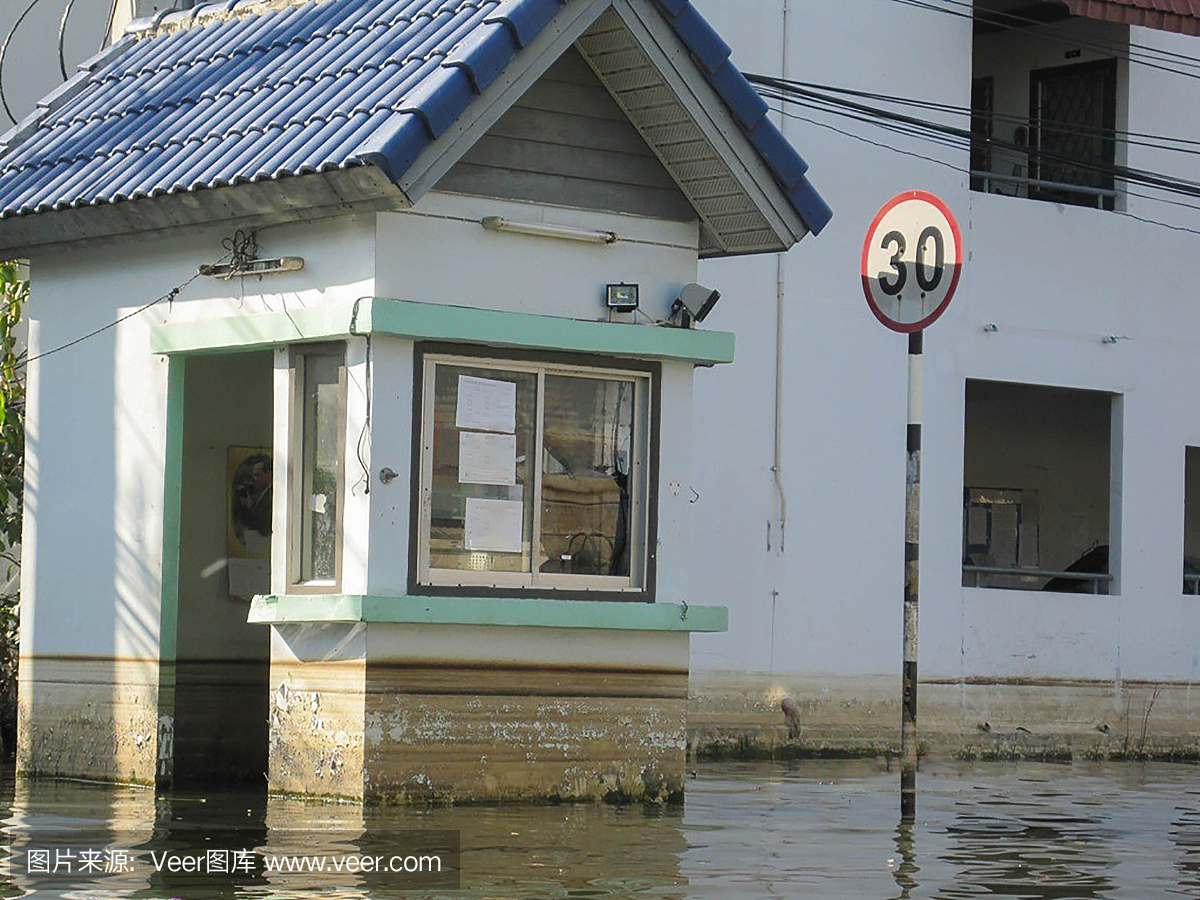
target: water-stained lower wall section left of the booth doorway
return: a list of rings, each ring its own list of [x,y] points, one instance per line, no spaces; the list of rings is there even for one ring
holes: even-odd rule
[[[17,772],[152,785],[158,664],[22,656]]]

